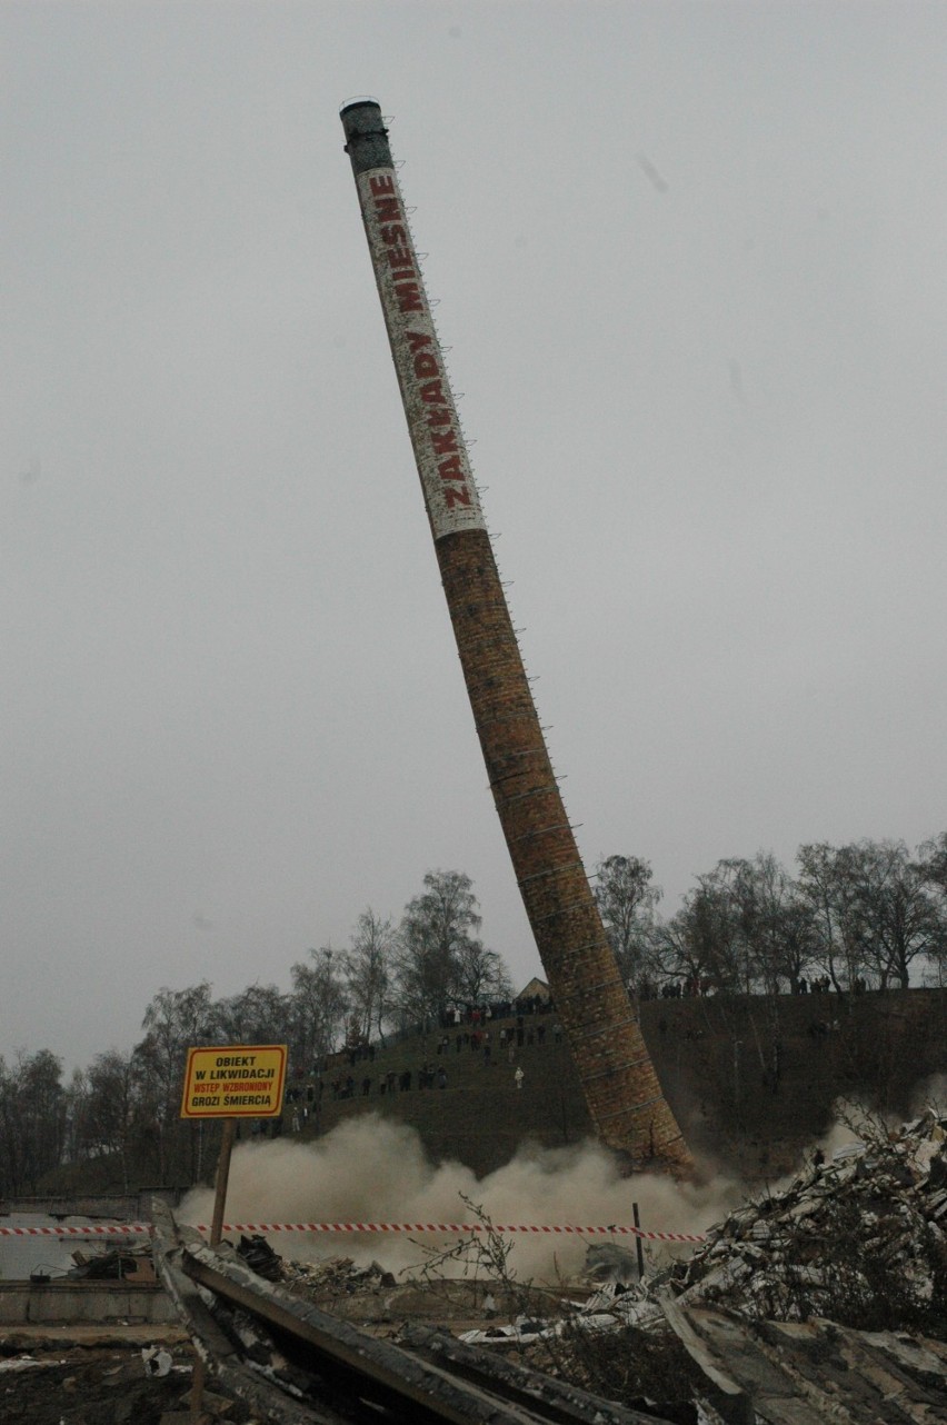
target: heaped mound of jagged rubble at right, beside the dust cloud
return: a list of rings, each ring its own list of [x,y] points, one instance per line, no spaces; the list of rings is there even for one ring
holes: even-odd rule
[[[947,1315],[947,1114],[880,1126],[708,1231],[666,1285],[678,1302],[743,1315],[827,1317],[862,1330]],[[900,1320],[899,1320],[900,1318]]]

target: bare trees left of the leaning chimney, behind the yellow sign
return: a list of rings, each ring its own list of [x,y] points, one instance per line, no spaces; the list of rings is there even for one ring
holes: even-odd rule
[[[179,1116],[189,1047],[286,1045],[292,1072],[308,1073],[342,1046],[383,1043],[453,1006],[508,1000],[510,975],[480,925],[470,878],[431,871],[399,925],[363,911],[346,949],[312,949],[291,966],[286,992],[258,983],[215,999],[206,980],[161,989],[142,1039],[95,1054],[68,1082],[48,1049],[0,1057],[0,1194],[34,1194],[63,1164],[107,1167],[110,1188],[197,1181],[216,1130]]]

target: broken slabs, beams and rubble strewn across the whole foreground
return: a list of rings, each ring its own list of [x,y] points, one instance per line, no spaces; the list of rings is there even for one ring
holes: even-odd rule
[[[456,1419],[439,1402],[474,1379],[496,1396],[497,1421],[947,1422],[947,1117],[852,1127],[859,1140],[830,1157],[810,1151],[790,1183],[749,1197],[696,1251],[641,1282],[614,1250],[598,1264],[612,1280],[587,1263],[584,1290],[540,1292],[503,1275],[399,1284],[346,1258],[291,1264],[259,1238],[222,1255],[185,1241],[181,1254],[164,1214],[162,1280],[189,1330],[212,1342],[201,1418],[363,1419],[383,1377],[379,1418],[402,1421],[403,1411],[389,1414],[393,1385],[420,1405],[430,1365],[431,1419]],[[189,1278],[204,1284],[199,1308]],[[185,1425],[187,1358],[174,1342],[148,1355],[154,1377],[141,1352],[104,1342],[10,1359],[3,1419]],[[343,1358],[347,1374],[333,1374],[328,1362]],[[554,1412],[511,1412],[514,1396],[537,1408],[548,1399]]]

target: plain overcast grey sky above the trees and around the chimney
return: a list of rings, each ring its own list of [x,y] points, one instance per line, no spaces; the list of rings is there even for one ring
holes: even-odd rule
[[[540,970],[339,105],[376,95],[591,871],[947,826],[947,6],[0,4],[0,1053],[433,868]]]

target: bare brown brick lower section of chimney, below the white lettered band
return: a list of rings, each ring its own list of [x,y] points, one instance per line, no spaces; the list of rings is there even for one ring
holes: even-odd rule
[[[639,1163],[688,1160],[602,928],[553,772],[490,539],[436,544],[493,799],[600,1137]]]

